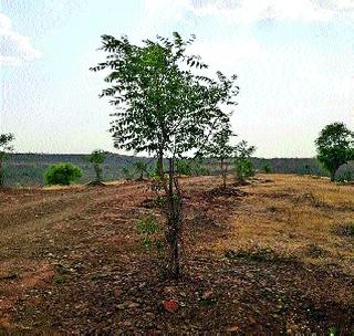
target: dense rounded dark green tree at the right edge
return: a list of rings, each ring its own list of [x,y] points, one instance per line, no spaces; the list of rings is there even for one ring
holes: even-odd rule
[[[354,159],[354,133],[343,123],[326,125],[315,140],[317,159],[335,179],[336,170]]]

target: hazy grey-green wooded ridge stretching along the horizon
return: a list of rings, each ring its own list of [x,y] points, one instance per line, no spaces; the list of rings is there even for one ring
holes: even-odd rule
[[[4,164],[4,183],[9,187],[15,186],[42,186],[43,174],[52,164],[71,162],[77,165],[83,170],[81,182],[88,182],[94,179],[94,170],[87,161],[88,155],[56,155],[56,154],[13,154]],[[148,162],[150,169],[154,169],[154,159],[146,157],[135,157],[118,154],[110,154],[103,165],[103,180],[116,180],[124,178],[124,168],[132,167],[134,161],[144,160]],[[329,176],[321,167],[321,164],[314,158],[273,158],[273,159],[251,159],[257,170],[263,170],[264,166],[272,172],[301,174]],[[206,171],[214,174],[210,165],[207,165]],[[351,176],[354,178],[354,162],[343,165],[337,171],[337,176]]]

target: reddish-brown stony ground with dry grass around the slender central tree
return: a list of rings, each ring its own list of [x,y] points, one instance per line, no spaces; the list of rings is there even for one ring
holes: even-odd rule
[[[181,180],[179,281],[136,230],[148,182],[0,191],[0,335],[354,333],[354,187],[219,183]]]

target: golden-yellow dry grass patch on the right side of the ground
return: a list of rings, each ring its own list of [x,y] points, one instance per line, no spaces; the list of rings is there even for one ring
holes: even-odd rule
[[[263,175],[273,182],[241,189],[243,198],[231,219],[231,232],[215,249],[272,251],[279,258],[296,258],[317,265],[335,265],[353,273],[354,198],[352,186],[327,179]]]

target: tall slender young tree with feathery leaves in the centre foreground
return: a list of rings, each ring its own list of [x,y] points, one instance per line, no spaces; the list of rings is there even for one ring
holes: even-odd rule
[[[175,172],[175,159],[198,151],[211,134],[229,120],[221,105],[236,104],[236,76],[217,80],[196,75],[192,69],[207,67],[199,56],[186,49],[195,36],[184,41],[178,33],[171,40],[157,36],[135,45],[126,36],[102,36],[102,50],[107,59],[93,71],[111,70],[105,81],[111,83],[101,96],[111,97],[118,108],[113,114],[112,133],[116,148],[147,151],[156,156],[158,175],[167,199],[166,242],[169,250],[169,275],[180,273],[179,241],[183,200]],[[169,159],[168,174],[164,161]]]

